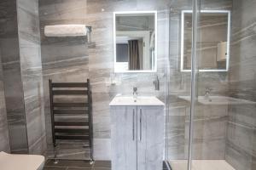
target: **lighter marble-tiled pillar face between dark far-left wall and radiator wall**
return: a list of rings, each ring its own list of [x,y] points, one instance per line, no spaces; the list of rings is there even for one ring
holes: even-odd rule
[[[30,154],[44,154],[46,133],[38,0],[18,0],[20,75]]]

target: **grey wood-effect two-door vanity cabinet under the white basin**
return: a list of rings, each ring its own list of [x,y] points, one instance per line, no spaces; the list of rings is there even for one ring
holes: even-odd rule
[[[164,106],[111,106],[113,170],[160,170]]]

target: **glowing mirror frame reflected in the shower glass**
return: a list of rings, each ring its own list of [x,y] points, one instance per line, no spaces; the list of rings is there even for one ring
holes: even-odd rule
[[[222,13],[228,14],[228,33],[227,33],[227,59],[226,59],[226,68],[225,69],[200,69],[200,72],[226,72],[229,71],[230,66],[230,26],[231,26],[231,14],[230,10],[201,10],[200,13]],[[180,71],[190,72],[191,70],[183,68],[183,48],[184,48],[184,14],[193,14],[192,10],[182,10],[181,16],[181,59],[180,59]]]

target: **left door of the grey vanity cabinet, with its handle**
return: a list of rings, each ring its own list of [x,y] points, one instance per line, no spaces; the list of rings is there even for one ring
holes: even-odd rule
[[[112,169],[137,170],[137,106],[111,107]]]

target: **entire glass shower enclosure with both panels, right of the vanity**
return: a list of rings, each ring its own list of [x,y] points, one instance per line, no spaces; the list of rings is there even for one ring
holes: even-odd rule
[[[172,1],[166,161],[256,169],[255,1]]]

